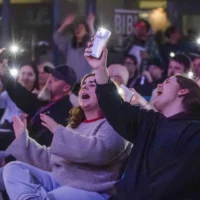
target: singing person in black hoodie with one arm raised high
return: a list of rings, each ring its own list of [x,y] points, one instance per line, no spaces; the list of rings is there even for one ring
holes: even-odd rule
[[[92,43],[89,43],[89,47]],[[158,86],[154,101],[160,112],[131,106],[119,96],[102,57],[85,57],[92,66],[101,109],[112,127],[134,143],[113,199],[199,199],[200,88],[191,79],[173,76]]]

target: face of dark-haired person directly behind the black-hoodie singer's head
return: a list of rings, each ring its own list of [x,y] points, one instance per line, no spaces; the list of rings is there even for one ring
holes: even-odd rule
[[[170,77],[183,73],[184,73],[184,66],[173,59],[170,60],[167,76]]]

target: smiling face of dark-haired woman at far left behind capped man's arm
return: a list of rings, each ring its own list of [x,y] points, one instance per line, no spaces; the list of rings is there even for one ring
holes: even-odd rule
[[[31,91],[34,89],[34,84],[36,81],[36,74],[33,68],[29,65],[21,67],[19,71],[18,82],[25,87],[27,90]]]

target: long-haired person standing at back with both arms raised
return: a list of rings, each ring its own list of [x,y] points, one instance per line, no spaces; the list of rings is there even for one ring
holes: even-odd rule
[[[59,29],[54,33],[53,39],[58,49],[66,56],[66,64],[71,66],[77,75],[77,81],[91,72],[91,68],[84,58],[84,50],[90,36],[95,34],[95,16],[89,14],[87,22],[77,21],[74,14],[68,15]],[[75,22],[75,23],[74,23]],[[72,38],[64,35],[64,32],[74,24]]]

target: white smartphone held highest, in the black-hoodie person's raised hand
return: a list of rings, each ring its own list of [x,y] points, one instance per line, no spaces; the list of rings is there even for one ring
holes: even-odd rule
[[[111,32],[105,28],[99,28],[94,36],[93,45],[91,47],[90,55],[95,58],[100,58],[104,46],[107,44]]]

